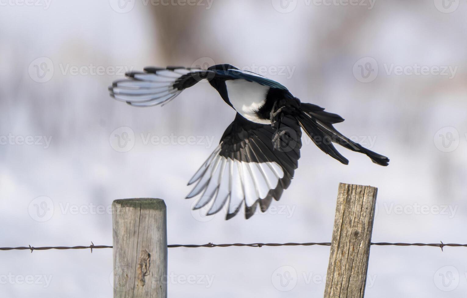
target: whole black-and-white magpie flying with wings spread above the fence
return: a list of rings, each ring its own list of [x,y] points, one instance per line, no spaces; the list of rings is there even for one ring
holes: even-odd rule
[[[343,122],[339,115],[303,103],[276,81],[260,74],[219,64],[199,68],[144,68],[130,72],[127,79],[109,87],[116,100],[135,107],[164,105],[198,81],[208,80],[220,97],[236,112],[219,146],[191,178],[196,183],[187,198],[201,194],[193,210],[209,208],[212,215],[226,206],[226,219],[241,206],[248,219],[259,206],[266,211],[290,185],[297,169],[302,146],[302,130],[319,149],[348,164],[333,142],[367,155],[373,163],[387,166],[389,159],[351,141],[333,124]]]

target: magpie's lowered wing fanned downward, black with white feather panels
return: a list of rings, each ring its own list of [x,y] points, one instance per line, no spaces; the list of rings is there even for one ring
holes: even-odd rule
[[[237,114],[219,146],[188,183],[197,182],[187,198],[201,194],[194,210],[204,207],[212,215],[227,204],[229,219],[244,204],[249,218],[258,205],[264,212],[272,198],[279,200],[297,169],[302,146],[297,121],[286,116],[282,123],[277,130]]]

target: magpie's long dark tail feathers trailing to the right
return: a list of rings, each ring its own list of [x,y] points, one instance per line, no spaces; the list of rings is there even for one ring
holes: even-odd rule
[[[389,164],[388,157],[364,148],[359,143],[350,140],[337,131],[333,127],[333,124],[344,121],[344,119],[337,114],[325,112],[324,108],[311,103],[301,103],[300,113],[296,118],[302,129],[316,144],[316,146],[341,163],[348,164],[348,160],[342,156],[339,151],[337,151],[333,142],[352,151],[367,155],[371,158],[373,163],[377,163],[382,166],[387,166]]]

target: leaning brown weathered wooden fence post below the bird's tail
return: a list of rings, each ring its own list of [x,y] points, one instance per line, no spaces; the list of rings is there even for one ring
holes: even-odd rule
[[[378,189],[339,184],[325,298],[363,298]]]

